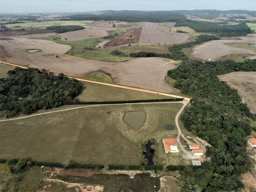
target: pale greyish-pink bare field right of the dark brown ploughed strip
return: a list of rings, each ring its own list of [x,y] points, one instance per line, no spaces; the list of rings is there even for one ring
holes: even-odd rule
[[[185,33],[165,31],[168,27],[158,23],[144,23],[140,34],[140,45],[176,44],[186,42],[190,36]]]

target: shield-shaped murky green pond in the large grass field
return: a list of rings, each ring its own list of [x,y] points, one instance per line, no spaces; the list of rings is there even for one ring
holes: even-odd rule
[[[145,111],[126,111],[123,116],[123,121],[135,130],[138,130],[143,125],[145,119]]]

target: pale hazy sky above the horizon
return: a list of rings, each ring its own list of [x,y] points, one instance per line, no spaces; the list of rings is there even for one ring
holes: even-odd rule
[[[0,0],[1,13],[59,13],[102,10],[256,10],[255,0]]]

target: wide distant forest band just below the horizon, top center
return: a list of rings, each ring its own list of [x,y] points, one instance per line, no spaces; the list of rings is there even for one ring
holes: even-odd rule
[[[171,13],[170,11],[117,11],[106,12],[101,15],[78,14],[70,15],[70,20],[104,20],[104,21],[125,21],[125,22],[177,22],[186,20],[184,15]],[[65,19],[64,19],[65,20]]]

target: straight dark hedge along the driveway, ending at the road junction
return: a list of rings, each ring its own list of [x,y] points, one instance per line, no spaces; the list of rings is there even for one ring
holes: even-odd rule
[[[168,99],[142,99],[142,100],[126,100],[126,101],[78,101],[66,100],[64,105],[91,105],[91,104],[122,104],[122,103],[152,103],[162,101],[183,101],[184,98],[168,98]]]

